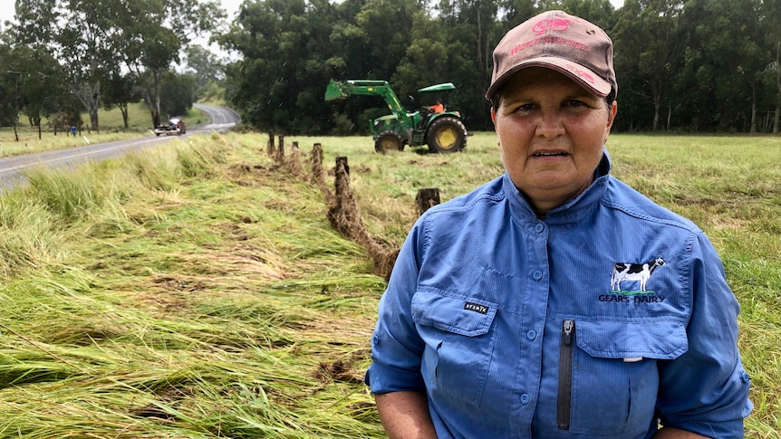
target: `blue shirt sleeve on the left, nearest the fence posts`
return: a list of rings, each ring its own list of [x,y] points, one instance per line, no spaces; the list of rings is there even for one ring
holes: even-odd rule
[[[411,315],[419,274],[420,221],[401,246],[380,300],[379,318],[371,336],[371,366],[364,381],[374,394],[424,391],[420,374],[423,340]]]

